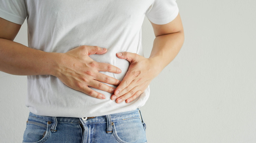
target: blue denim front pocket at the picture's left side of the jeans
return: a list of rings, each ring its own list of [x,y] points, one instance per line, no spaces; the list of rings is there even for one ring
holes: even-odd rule
[[[51,121],[29,117],[23,135],[23,143],[45,142],[51,134]]]

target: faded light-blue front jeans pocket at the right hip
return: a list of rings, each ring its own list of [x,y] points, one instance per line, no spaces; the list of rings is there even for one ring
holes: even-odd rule
[[[113,134],[122,143],[147,142],[144,127],[139,118],[126,119],[114,122]]]

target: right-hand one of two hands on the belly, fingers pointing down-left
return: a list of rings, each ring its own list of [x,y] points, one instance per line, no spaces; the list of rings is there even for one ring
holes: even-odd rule
[[[116,103],[123,101],[130,103],[138,98],[159,74],[156,66],[154,66],[157,63],[153,59],[129,52],[117,53],[117,57],[128,60],[130,66],[111,99],[116,100]]]

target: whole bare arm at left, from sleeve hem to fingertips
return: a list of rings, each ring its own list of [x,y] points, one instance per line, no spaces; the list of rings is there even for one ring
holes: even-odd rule
[[[15,75],[53,75],[67,86],[92,97],[104,99],[105,95],[88,86],[113,93],[119,80],[100,73],[120,73],[117,67],[93,61],[89,55],[104,54],[105,48],[79,46],[67,53],[49,53],[13,42],[21,25],[0,18],[0,71]]]

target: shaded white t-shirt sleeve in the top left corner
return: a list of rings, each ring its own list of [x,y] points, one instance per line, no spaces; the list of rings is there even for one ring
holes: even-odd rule
[[[0,0],[0,17],[16,24],[23,24],[27,18],[25,0]]]

